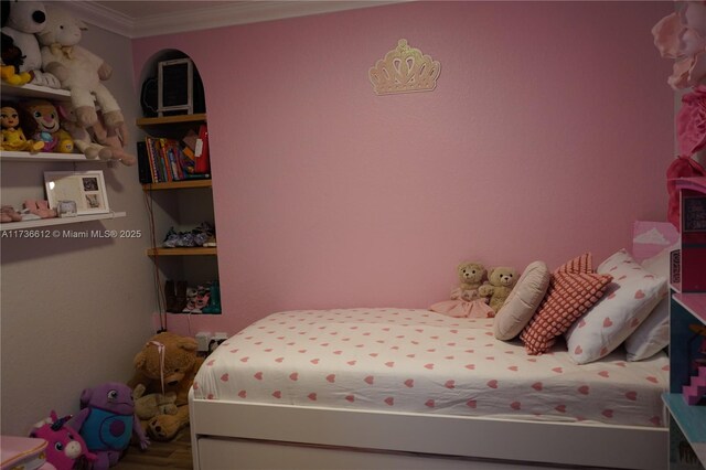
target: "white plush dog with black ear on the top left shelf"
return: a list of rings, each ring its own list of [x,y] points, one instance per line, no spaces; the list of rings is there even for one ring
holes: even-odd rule
[[[22,65],[18,73],[29,73],[30,83],[34,85],[61,88],[58,78],[42,72],[42,54],[35,33],[42,32],[46,25],[46,9],[41,1],[2,0],[2,9],[8,19],[2,32],[22,51]],[[9,13],[7,12],[9,9]]]

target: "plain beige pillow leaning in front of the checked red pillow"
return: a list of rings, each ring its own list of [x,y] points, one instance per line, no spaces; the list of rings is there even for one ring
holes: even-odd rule
[[[495,338],[509,341],[520,334],[542,303],[550,277],[547,265],[543,261],[527,265],[495,316]]]

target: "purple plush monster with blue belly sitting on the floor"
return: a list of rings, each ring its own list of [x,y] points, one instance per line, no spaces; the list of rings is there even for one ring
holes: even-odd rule
[[[81,412],[71,421],[98,457],[94,469],[115,466],[135,435],[142,450],[150,441],[135,415],[132,391],[125,384],[108,382],[81,394]]]

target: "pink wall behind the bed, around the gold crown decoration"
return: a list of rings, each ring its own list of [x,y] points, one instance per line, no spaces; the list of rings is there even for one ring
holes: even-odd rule
[[[280,309],[427,307],[456,265],[523,269],[664,220],[671,2],[414,2],[133,42],[206,88],[223,327]],[[397,40],[432,93],[376,96]]]

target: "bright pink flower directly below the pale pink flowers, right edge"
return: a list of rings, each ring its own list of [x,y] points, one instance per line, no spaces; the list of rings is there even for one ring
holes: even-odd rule
[[[706,85],[699,85],[682,97],[676,115],[680,153],[688,157],[706,146]]]

